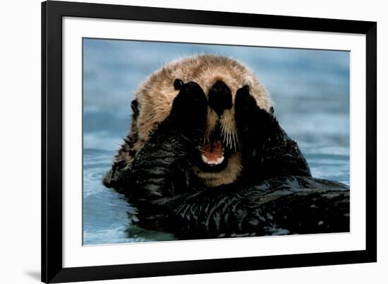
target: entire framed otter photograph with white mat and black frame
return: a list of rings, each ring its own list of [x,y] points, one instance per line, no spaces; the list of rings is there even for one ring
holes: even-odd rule
[[[377,261],[377,23],[42,3],[42,281]]]

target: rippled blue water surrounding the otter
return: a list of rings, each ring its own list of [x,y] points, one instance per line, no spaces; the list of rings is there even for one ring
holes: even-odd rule
[[[174,239],[131,225],[136,208],[104,187],[102,177],[128,133],[138,84],[178,57],[215,53],[249,66],[313,176],[349,184],[349,52],[92,39],[83,49],[84,244]]]

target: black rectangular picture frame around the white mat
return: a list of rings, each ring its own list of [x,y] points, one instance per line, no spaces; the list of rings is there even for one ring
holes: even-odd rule
[[[365,250],[63,268],[62,18],[358,33],[366,36]],[[42,3],[42,281],[62,283],[377,261],[377,23],[62,1]]]

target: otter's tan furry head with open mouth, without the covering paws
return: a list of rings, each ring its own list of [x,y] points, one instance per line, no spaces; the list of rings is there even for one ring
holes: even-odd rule
[[[193,172],[207,185],[216,187],[234,182],[241,174],[241,152],[234,119],[236,92],[248,86],[257,105],[264,110],[272,101],[252,71],[234,59],[200,55],[174,61],[156,71],[140,85],[133,102],[130,139],[133,153],[143,147],[152,130],[169,116],[183,83],[198,83],[207,96],[207,125],[200,139]]]

